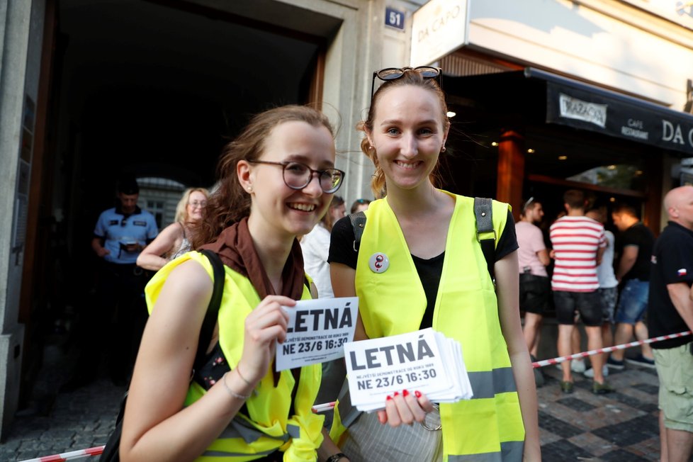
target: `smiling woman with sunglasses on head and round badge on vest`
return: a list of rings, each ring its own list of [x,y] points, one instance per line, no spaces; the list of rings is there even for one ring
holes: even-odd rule
[[[334,295],[359,296],[356,339],[433,327],[458,340],[474,396],[441,403],[439,424],[431,424],[437,411],[426,396],[401,390],[383,401],[377,417],[357,417],[342,436],[342,449],[352,461],[414,460],[407,456],[412,453],[422,461],[539,461],[536,389],[519,320],[509,206],[492,205],[494,290],[476,237],[473,198],[433,183],[450,127],[439,69],[385,69],[376,77],[385,83],[359,129],[365,134],[361,150],[376,167],[371,188],[379,199],[365,212],[358,251],[349,218],[334,226]],[[388,259],[385,271],[371,269],[376,253]],[[341,402],[337,411],[334,439],[344,431],[338,417],[353,417]]]

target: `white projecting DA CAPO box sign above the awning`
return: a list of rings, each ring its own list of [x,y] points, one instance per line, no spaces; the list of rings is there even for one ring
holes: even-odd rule
[[[431,0],[413,15],[412,66],[432,64],[466,43],[468,0]]]

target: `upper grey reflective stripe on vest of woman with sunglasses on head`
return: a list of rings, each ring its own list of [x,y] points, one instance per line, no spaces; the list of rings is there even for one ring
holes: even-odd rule
[[[501,367],[493,369],[493,371],[468,372],[467,374],[474,393],[472,397],[473,400],[479,398],[493,398],[498,393],[517,391],[515,378],[512,375],[512,368],[510,367]],[[349,385],[347,381],[344,381],[342,390],[339,392],[339,417],[342,418],[342,425],[349,428],[349,425],[351,425],[360,414],[361,412],[357,410],[355,406],[351,405]]]

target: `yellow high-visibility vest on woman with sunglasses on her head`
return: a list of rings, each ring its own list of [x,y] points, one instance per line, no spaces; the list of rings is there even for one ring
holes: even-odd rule
[[[522,461],[524,424],[494,286],[477,241],[474,200],[447,194],[456,205],[433,328],[461,343],[474,396],[440,405],[444,460]],[[508,208],[493,201],[492,221],[498,237]],[[371,202],[365,213],[355,282],[366,334],[374,339],[418,330],[427,300],[397,218],[387,198]],[[388,259],[386,271],[371,271],[369,260],[378,253]],[[348,406],[339,403],[338,422],[340,417],[346,422]],[[339,423],[332,432],[337,434]]]

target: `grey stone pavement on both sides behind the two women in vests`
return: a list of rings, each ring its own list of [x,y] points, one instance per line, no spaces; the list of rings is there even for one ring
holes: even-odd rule
[[[33,406],[11,424],[0,444],[0,461],[23,461],[104,444],[113,429],[125,387],[106,374],[71,393],[57,393],[67,380],[69,355],[46,349],[43,381],[35,385]],[[657,461],[659,430],[657,375],[653,369],[626,366],[610,371],[609,395],[593,395],[591,379],[575,374],[575,393],[561,393],[560,371],[542,368],[546,384],[538,389],[543,461]],[[92,458],[81,460],[96,462]],[[693,459],[692,459],[693,461]]]

